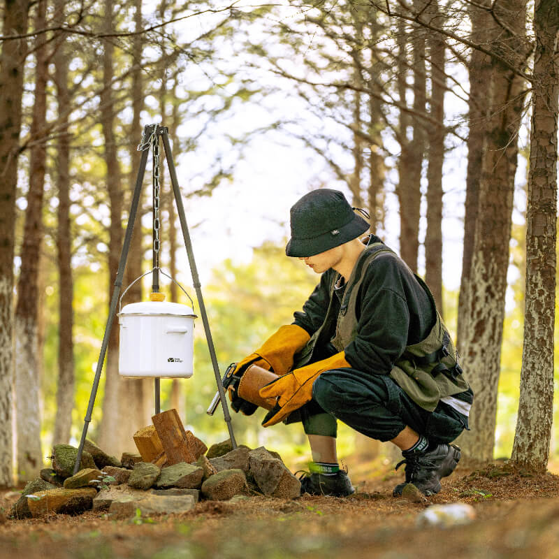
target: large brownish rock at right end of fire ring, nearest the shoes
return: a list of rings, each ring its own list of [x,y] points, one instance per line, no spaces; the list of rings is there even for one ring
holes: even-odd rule
[[[250,474],[264,495],[296,499],[301,494],[301,482],[264,447],[249,452]]]

